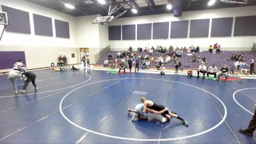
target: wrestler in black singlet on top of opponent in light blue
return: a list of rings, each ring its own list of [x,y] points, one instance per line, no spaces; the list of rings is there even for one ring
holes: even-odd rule
[[[141,102],[143,103],[143,113],[146,113],[147,108],[148,109],[153,109],[156,111],[162,111],[163,109],[166,109],[165,106],[161,105],[161,104],[156,104],[155,102],[153,102],[152,100],[147,100],[146,97],[141,97]],[[186,120],[184,120],[183,118],[181,118],[179,115],[177,115],[177,113],[172,113],[171,111],[165,111],[164,113],[161,114],[163,117],[167,118],[167,120],[170,120],[173,117],[178,118],[179,120],[181,120],[183,122],[183,124],[188,127],[188,122]]]

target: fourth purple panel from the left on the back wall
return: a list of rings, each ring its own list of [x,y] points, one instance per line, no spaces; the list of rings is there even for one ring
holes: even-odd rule
[[[169,22],[153,23],[153,39],[166,39],[169,33]]]

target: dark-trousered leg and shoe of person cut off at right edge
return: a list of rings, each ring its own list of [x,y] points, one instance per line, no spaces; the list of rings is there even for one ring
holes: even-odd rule
[[[253,132],[256,129],[256,104],[254,104],[255,112],[252,120],[246,129],[239,129],[239,132],[246,134],[247,136],[253,136]]]

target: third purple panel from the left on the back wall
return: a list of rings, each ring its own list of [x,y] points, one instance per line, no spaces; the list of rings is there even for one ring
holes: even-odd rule
[[[137,40],[151,39],[152,24],[137,24]]]

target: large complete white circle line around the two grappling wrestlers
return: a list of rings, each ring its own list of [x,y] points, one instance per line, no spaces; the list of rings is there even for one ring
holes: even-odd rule
[[[123,79],[151,79],[151,78],[123,78]],[[102,82],[105,82],[105,81],[115,81],[115,80],[121,80],[121,79],[107,79],[107,80],[103,80],[103,81],[97,81],[97,82],[93,82],[93,83],[89,83],[89,84],[84,84],[83,86],[79,86],[78,88],[76,88],[76,89],[70,91],[69,93],[67,93],[67,94],[61,99],[61,101],[60,101],[60,113],[61,113],[61,115],[63,116],[63,118],[65,118],[65,120],[67,120],[70,124],[72,124],[72,125],[78,127],[79,129],[83,129],[84,131],[92,132],[93,134],[98,134],[98,135],[100,135],[100,136],[106,136],[106,137],[108,137],[108,138],[116,138],[116,139],[120,139],[120,140],[131,140],[131,141],[171,141],[171,140],[181,140],[181,139],[185,139],[185,138],[192,138],[192,137],[199,136],[199,135],[205,134],[205,133],[207,133],[207,132],[210,132],[210,131],[216,129],[218,126],[220,126],[220,125],[225,121],[225,118],[227,117],[227,108],[226,108],[225,104],[224,104],[218,97],[216,97],[216,95],[214,95],[214,94],[212,94],[212,93],[210,93],[210,92],[208,92],[208,91],[206,91],[206,90],[204,90],[204,89],[202,89],[202,88],[198,88],[198,87],[196,87],[196,86],[193,86],[193,85],[191,85],[191,84],[180,83],[180,82],[177,82],[177,81],[170,81],[170,80],[166,80],[166,79],[152,79],[152,80],[170,81],[170,82],[173,82],[173,83],[179,83],[179,84],[184,84],[184,85],[186,85],[186,86],[191,86],[191,87],[194,87],[194,88],[198,88],[199,90],[202,90],[202,91],[204,91],[204,92],[206,92],[206,93],[209,93],[210,95],[212,95],[213,97],[215,97],[216,99],[218,99],[218,100],[221,102],[221,104],[222,104],[222,106],[223,106],[223,108],[224,108],[224,110],[225,110],[224,116],[223,116],[223,118],[221,119],[221,121],[220,121],[218,124],[214,125],[214,127],[211,127],[210,129],[207,129],[207,130],[202,131],[202,132],[198,132],[198,133],[196,133],[196,134],[191,134],[191,135],[189,135],[189,136],[182,136],[182,137],[179,137],[179,138],[166,138],[166,139],[138,139],[138,138],[125,138],[125,137],[113,136],[113,135],[109,135],[109,134],[103,134],[103,133],[100,133],[100,132],[95,132],[95,131],[92,131],[92,130],[90,130],[90,129],[86,129],[86,128],[84,128],[84,127],[81,127],[80,125],[75,124],[75,123],[72,122],[70,119],[68,119],[67,116],[65,116],[65,114],[64,114],[63,111],[62,111],[62,103],[63,103],[63,100],[64,100],[70,93],[72,93],[72,92],[78,90],[79,88],[83,88],[84,86],[88,86],[88,85],[95,84],[95,83],[102,83]]]

